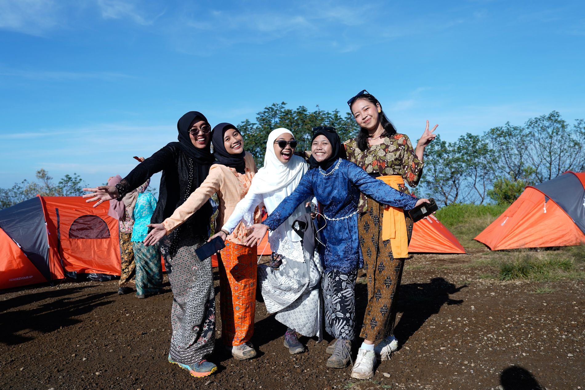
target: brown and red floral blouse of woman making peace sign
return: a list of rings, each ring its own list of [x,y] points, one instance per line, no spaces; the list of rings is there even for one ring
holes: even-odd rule
[[[383,142],[372,145],[362,151],[357,147],[357,140],[352,138],[345,141],[347,160],[352,161],[367,173],[379,173],[382,176],[400,175],[410,187],[417,187],[421,180],[422,163],[414,154],[414,148],[406,134],[394,134],[384,137]],[[404,185],[400,191],[409,194]],[[366,195],[360,196],[357,210],[367,212]]]

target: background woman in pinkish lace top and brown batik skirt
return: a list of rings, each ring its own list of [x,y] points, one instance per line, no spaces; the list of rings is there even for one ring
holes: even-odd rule
[[[120,175],[109,178],[108,185],[116,185],[122,180]],[[118,281],[118,295],[129,294],[136,285],[136,262],[132,249],[132,228],[134,219],[132,213],[139,192],[144,192],[150,184],[150,178],[139,188],[128,192],[122,202],[111,200],[108,215],[119,220],[120,240],[120,280]]]

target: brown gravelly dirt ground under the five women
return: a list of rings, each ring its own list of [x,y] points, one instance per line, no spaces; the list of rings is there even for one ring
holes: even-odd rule
[[[2,291],[0,389],[585,388],[585,281],[552,282],[553,292],[535,294],[533,282],[481,277],[490,270],[476,252],[407,260],[401,348],[366,381],[351,379],[351,367],[325,367],[326,342],[301,338],[308,351],[291,356],[285,327],[262,303],[252,338],[258,356],[235,360],[218,340],[209,359],[218,372],[193,378],[167,363],[168,282],[147,299],[118,296],[116,281]],[[356,286],[359,319],[366,285]]]

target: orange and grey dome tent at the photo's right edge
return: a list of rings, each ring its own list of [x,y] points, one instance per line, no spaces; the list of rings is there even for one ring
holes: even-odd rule
[[[491,250],[585,244],[585,172],[526,187],[475,240]]]

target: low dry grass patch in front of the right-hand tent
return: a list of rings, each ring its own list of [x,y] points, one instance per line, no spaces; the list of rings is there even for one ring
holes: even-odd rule
[[[498,279],[552,281],[579,278],[584,273],[580,272],[584,258],[583,246],[558,251],[514,251],[508,259],[500,262]]]

